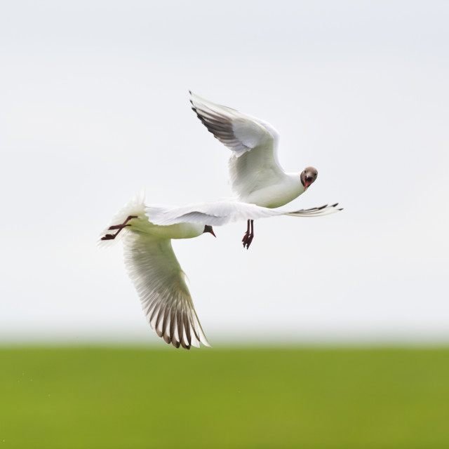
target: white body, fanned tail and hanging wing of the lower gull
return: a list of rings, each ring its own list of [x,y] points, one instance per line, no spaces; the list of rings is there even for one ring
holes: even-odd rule
[[[126,271],[138,292],[149,325],[168,344],[186,349],[210,346],[196,316],[186,275],[177,262],[171,239],[192,239],[204,232],[204,225],[181,223],[157,226],[145,215],[145,196],[140,194],[124,206],[112,221],[119,225],[128,217],[129,225],[119,230],[123,241]],[[101,238],[111,235],[109,227]],[[99,241],[100,246],[115,239]]]

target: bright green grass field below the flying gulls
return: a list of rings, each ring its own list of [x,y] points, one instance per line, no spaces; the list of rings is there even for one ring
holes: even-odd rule
[[[0,349],[1,448],[449,448],[449,349]]]

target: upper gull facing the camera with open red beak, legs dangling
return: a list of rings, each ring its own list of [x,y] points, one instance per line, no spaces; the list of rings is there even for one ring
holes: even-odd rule
[[[235,109],[220,106],[190,92],[192,109],[215,138],[232,151],[229,179],[236,201],[265,208],[278,208],[304,193],[318,176],[307,167],[286,173],[279,164],[279,134],[272,125]],[[248,220],[243,247],[254,238],[253,220]]]

